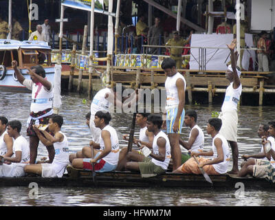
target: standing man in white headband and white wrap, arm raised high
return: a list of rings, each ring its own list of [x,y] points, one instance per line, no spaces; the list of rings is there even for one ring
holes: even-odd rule
[[[221,113],[219,114],[219,118],[221,118],[223,122],[220,133],[226,140],[228,140],[232,150],[233,167],[228,173],[236,174],[239,171],[239,150],[236,135],[238,125],[237,105],[240,100],[242,86],[240,81],[241,72],[236,67],[238,53],[234,53],[236,39],[233,39],[232,43],[227,46],[231,53],[231,65],[228,66],[225,78],[230,81],[230,85],[226,88]]]

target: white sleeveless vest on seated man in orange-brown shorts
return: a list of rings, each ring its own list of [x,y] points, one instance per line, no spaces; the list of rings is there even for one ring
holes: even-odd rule
[[[218,173],[226,173],[228,171],[228,165],[230,162],[230,150],[229,150],[229,146],[228,146],[228,142],[225,139],[225,137],[223,137],[222,135],[220,135],[219,133],[214,136],[213,140],[212,140],[212,151],[214,153],[213,158],[216,158],[218,156],[217,154],[217,148],[216,146],[214,146],[214,140],[219,137],[219,139],[221,139],[222,141],[222,148],[223,148],[223,162],[219,163],[219,164],[213,164],[214,169],[218,172]]]

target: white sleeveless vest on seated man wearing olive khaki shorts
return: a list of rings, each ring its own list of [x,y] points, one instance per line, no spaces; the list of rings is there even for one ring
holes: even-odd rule
[[[170,142],[169,142],[167,135],[163,131],[159,131],[159,133],[157,135],[155,135],[155,137],[154,137],[153,154],[159,155],[159,147],[157,146],[157,139],[159,137],[164,137],[164,139],[166,140],[165,160],[164,160],[164,162],[162,162],[162,161],[152,158],[152,162],[157,166],[161,166],[164,170],[167,170],[169,162],[170,162],[170,158],[171,158]]]

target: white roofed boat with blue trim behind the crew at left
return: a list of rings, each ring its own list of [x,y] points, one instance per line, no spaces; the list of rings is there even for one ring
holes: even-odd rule
[[[27,79],[30,79],[30,75],[26,67],[42,65],[47,80],[54,85],[51,47],[46,42],[0,39],[0,90],[30,92],[17,80],[11,65],[12,61],[17,61],[21,74]]]

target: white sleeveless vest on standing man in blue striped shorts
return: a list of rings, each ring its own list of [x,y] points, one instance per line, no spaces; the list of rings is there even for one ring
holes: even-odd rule
[[[174,109],[179,104],[179,95],[177,94],[176,82],[178,78],[182,78],[184,80],[184,91],[186,90],[186,80],[184,76],[179,74],[175,74],[174,76],[167,77],[165,81],[165,89],[166,89],[166,107],[165,109]]]

